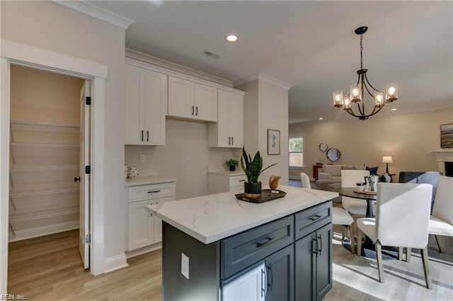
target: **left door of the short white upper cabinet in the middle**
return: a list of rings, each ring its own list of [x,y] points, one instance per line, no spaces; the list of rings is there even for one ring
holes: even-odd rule
[[[168,76],[168,116],[193,118],[195,83]]]

